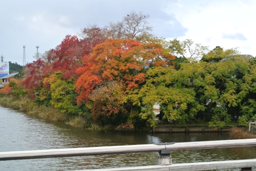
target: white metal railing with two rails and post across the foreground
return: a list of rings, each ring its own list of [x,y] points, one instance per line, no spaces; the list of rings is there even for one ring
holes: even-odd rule
[[[1,160],[20,160],[20,159],[38,159],[38,158],[51,158],[51,157],[71,157],[71,156],[92,156],[92,155],[105,155],[105,154],[121,154],[121,153],[142,153],[142,152],[159,152],[158,164],[162,166],[143,166],[144,170],[166,170],[172,168],[177,164],[172,164],[170,151],[179,150],[200,150],[200,149],[215,149],[215,148],[236,148],[242,146],[256,146],[256,139],[240,139],[240,140],[220,140],[220,141],[198,141],[198,142],[179,142],[179,143],[158,143],[158,144],[144,144],[144,145],[120,145],[120,146],[99,146],[92,148],[75,148],[75,149],[55,149],[55,150],[34,150],[34,151],[17,151],[17,152],[0,152]],[[230,168],[244,167],[241,163],[247,163],[248,167],[255,167],[256,159],[251,161],[238,160],[237,166]],[[204,162],[207,163],[207,162]],[[248,165],[249,163],[249,165]],[[184,163],[183,165],[187,165]],[[224,163],[221,163],[224,164]],[[219,165],[221,165],[219,163]],[[193,163],[192,163],[193,165]],[[204,164],[198,164],[204,165]],[[212,165],[212,163],[208,163]],[[218,165],[215,163],[213,165]],[[225,164],[224,164],[225,165]],[[226,165],[230,165],[226,163]],[[232,164],[231,164],[232,165]],[[167,167],[166,167],[167,166]],[[191,167],[191,166],[187,166]],[[148,169],[146,169],[148,168]],[[164,168],[164,169],[162,169]],[[215,169],[214,167],[211,167]],[[220,168],[220,167],[218,167]],[[127,170],[138,170],[127,168]],[[123,170],[123,169],[101,169],[101,170]],[[139,169],[140,170],[140,169]],[[169,170],[169,169],[168,169]],[[185,170],[185,169],[183,169]],[[195,170],[195,169],[193,169]],[[201,169],[202,170],[202,169]],[[203,169],[206,170],[206,169]]]

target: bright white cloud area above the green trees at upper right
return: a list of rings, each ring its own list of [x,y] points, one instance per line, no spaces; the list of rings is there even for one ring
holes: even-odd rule
[[[182,26],[187,28],[180,40],[192,39],[196,43],[215,48],[239,47],[242,54],[256,56],[254,44],[255,1],[186,1],[183,9],[172,8]]]

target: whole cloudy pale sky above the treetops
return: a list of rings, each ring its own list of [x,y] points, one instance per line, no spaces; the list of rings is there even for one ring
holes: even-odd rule
[[[192,39],[210,49],[239,47],[256,56],[255,9],[250,0],[0,0],[0,55],[22,65],[26,45],[26,62],[32,62],[37,45],[44,53],[68,34],[89,24],[106,26],[134,10],[150,14],[158,37]]]

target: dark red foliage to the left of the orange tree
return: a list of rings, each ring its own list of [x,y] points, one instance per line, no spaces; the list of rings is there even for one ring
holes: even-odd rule
[[[82,58],[92,52],[92,48],[102,40],[78,39],[77,36],[66,36],[54,50],[43,54],[39,59],[26,66],[26,78],[24,86],[30,96],[34,98],[38,89],[43,85],[45,78],[61,71],[62,79],[74,81],[78,78],[76,69],[82,66]]]

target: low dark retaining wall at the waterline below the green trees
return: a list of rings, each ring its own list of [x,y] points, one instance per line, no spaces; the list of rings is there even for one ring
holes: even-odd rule
[[[236,126],[245,128],[243,126]],[[233,126],[225,126],[222,128],[212,128],[208,126],[156,126],[153,132],[229,132]]]

